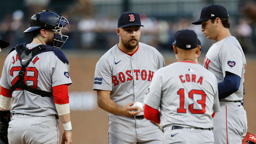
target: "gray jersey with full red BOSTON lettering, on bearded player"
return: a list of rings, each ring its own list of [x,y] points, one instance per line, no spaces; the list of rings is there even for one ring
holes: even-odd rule
[[[162,55],[147,44],[139,42],[132,57],[115,45],[97,62],[93,89],[111,91],[111,100],[120,106],[143,102],[154,73],[164,66]]]

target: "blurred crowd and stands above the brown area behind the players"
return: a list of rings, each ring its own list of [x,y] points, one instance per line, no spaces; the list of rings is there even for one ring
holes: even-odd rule
[[[63,49],[108,50],[118,42],[117,20],[125,11],[138,12],[141,17],[140,42],[158,50],[170,51],[174,34],[181,29],[196,31],[207,52],[214,41],[206,39],[201,25],[191,22],[199,18],[202,7],[216,3],[229,13],[230,31],[245,53],[256,54],[256,31],[252,21],[244,16],[243,9],[256,0],[1,0],[0,33],[9,47],[30,43],[32,36],[23,31],[36,12],[52,10],[65,16],[70,23],[69,36]]]

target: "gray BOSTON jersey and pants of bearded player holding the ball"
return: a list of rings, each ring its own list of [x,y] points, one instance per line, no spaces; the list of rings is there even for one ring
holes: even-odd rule
[[[115,45],[97,62],[93,89],[111,91],[111,100],[121,106],[135,100],[143,103],[156,70],[164,66],[162,55],[147,44],[139,42],[138,50],[132,56]],[[143,115],[143,111],[138,115]],[[162,131],[146,119],[133,119],[112,113],[109,113],[108,119],[110,144],[162,144]]]

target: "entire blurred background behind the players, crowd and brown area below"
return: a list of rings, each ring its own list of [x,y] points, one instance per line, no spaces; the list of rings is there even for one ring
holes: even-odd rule
[[[9,48],[0,53],[0,68],[11,47],[32,41],[32,35],[23,33],[29,27],[32,15],[48,9],[66,17],[70,31],[63,33],[69,39],[62,49],[70,61],[73,81],[69,86],[73,143],[105,144],[108,142],[107,112],[97,106],[92,86],[98,59],[119,42],[116,34],[118,17],[126,11],[139,13],[144,25],[140,42],[158,49],[166,65],[176,60],[170,49],[175,32],[194,30],[202,43],[200,63],[215,41],[204,36],[201,25],[191,23],[199,18],[202,7],[213,3],[227,9],[231,22],[229,30],[246,55],[244,106],[248,132],[256,134],[256,0],[0,0],[0,33],[2,39],[10,42]],[[60,127],[63,131],[62,124]]]

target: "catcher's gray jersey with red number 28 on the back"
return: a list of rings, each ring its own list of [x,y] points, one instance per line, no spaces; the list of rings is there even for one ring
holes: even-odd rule
[[[27,44],[27,48],[38,46],[37,43]],[[21,69],[20,58],[16,50],[5,59],[0,85],[6,89],[18,80]],[[36,55],[26,68],[24,80],[27,86],[34,89],[52,92],[53,86],[71,84],[67,64],[63,63],[53,51]],[[30,116],[50,116],[58,114],[53,97],[42,97],[26,90],[12,92],[11,113],[28,114]]]

